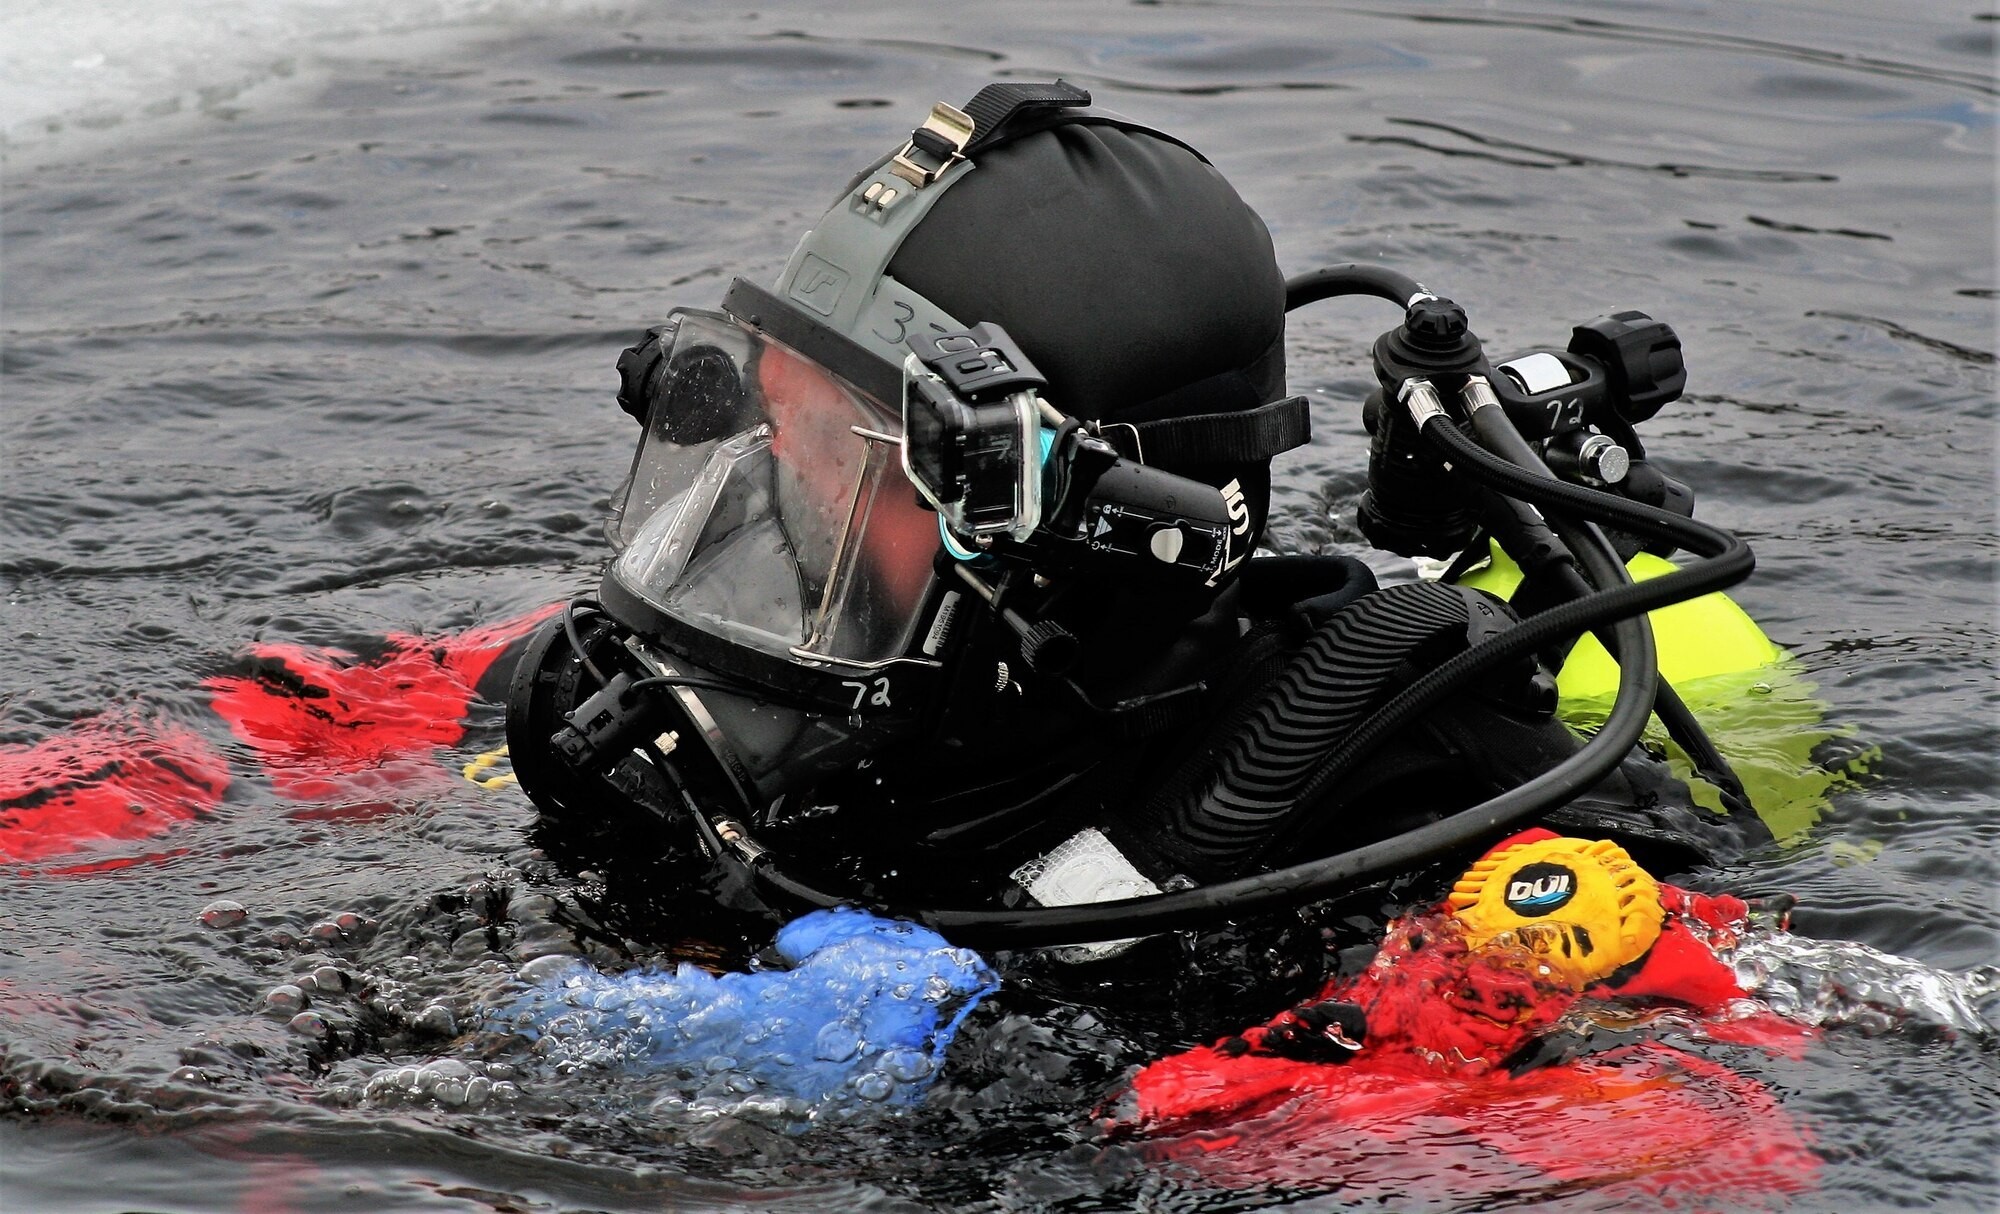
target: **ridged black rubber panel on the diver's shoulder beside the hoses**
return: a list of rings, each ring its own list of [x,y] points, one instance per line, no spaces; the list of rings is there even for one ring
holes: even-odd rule
[[[1462,594],[1388,586],[1328,620],[1258,694],[1206,778],[1148,814],[1156,824],[1148,844],[1198,880],[1242,872],[1302,810],[1298,790],[1320,758],[1394,694],[1398,668],[1464,646]]]

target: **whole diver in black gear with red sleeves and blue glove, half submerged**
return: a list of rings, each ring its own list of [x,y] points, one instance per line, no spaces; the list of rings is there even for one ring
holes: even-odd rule
[[[1272,460],[1308,440],[1286,314],[1344,294],[1396,310],[1358,528],[1424,562],[1408,582],[1258,554]],[[256,644],[204,680],[228,754],[118,710],[0,746],[0,862],[136,862],[74,858],[204,816],[238,776],[302,814],[394,808],[504,700],[506,748],[464,774],[506,788],[510,762],[540,840],[688,876],[662,892],[674,940],[712,942],[704,898],[758,942],[786,924],[728,974],[528,958],[488,1012],[560,1066],[652,1070],[688,1108],[734,1108],[700,1102],[736,1080],[806,1112],[914,1102],[998,988],[968,948],[1096,962],[1368,894],[1370,936],[1404,910],[1358,966],[1322,956],[1348,972],[1140,1070],[1126,1128],[1188,1130],[1210,1176],[1260,1188],[1366,1184],[1436,1116],[1508,1182],[1810,1184],[1754,1078],[1628,1040],[1656,1014],[1772,1048],[1808,1028],[1746,1014],[1732,968],[1782,906],[1652,876],[1762,820],[1648,612],[1706,604],[1700,648],[1776,658],[1714,594],[1748,548],[1636,432],[1686,384],[1670,326],[1614,312],[1490,358],[1392,268],[1288,280],[1184,142],[1064,82],[994,84],[858,174],[770,290],[674,312],[618,372],[640,440],[592,598],[358,654]],[[1556,708],[1586,664],[1606,714],[1582,738]],[[1652,716],[1732,812],[1642,746]],[[422,1070],[366,1096],[424,1098]],[[1274,1102],[1296,1112],[1276,1138],[1204,1136]]]

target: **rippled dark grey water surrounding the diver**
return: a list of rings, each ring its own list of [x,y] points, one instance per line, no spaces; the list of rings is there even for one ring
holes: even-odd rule
[[[1690,390],[1650,450],[1752,542],[1738,600],[1880,746],[1810,832],[1710,882],[1798,894],[1806,934],[1992,964],[1994,30],[1958,4],[656,4],[334,48],[300,104],[14,148],[0,742],[106,706],[210,728],[198,682],[252,640],[448,632],[590,584],[634,438],[618,348],[774,278],[932,100],[1060,72],[1202,148],[1288,272],[1390,262],[1492,350],[1670,320]],[[1356,540],[1390,320],[1294,318],[1316,436],[1278,462],[1280,550]],[[1178,1042],[1032,988],[968,1024],[930,1104],[804,1136],[676,1124],[636,1080],[360,1100],[450,1034],[378,1020],[328,1062],[272,986],[334,964],[464,1010],[512,972],[496,898],[528,936],[590,890],[534,860],[518,794],[440,776],[346,810],[238,778],[212,818],[100,856],[140,864],[0,876],[8,1214],[1346,1208],[1100,1142],[1096,1102]],[[204,926],[218,898],[250,918]],[[672,944],[574,930],[610,960]],[[1814,1128],[1796,1208],[2000,1206],[1990,1040],[1726,1060]],[[1534,1186],[1438,1208],[1544,1204],[1600,1208]]]

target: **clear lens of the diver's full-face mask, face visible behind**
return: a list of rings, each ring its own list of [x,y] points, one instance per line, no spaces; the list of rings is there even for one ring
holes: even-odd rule
[[[722,314],[682,312],[612,524],[618,580],[710,636],[792,660],[910,646],[936,516],[896,412]]]

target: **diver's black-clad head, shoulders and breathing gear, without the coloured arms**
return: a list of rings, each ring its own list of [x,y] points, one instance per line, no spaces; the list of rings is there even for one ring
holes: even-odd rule
[[[1400,310],[1358,522],[1416,582],[1254,556],[1310,432],[1286,312],[1340,294]],[[508,694],[550,830],[698,852],[778,918],[1026,948],[1302,906],[1526,826],[1660,872],[1758,826],[1656,670],[1646,612],[1752,556],[1646,460],[1634,426],[1686,372],[1642,312],[1490,360],[1396,270],[1286,280],[1198,150],[1058,80],[934,106],[772,288],[676,310],[618,370],[640,440],[610,566]],[[1498,568],[1506,600],[1474,588]],[[1556,672],[1598,642],[1618,690],[1584,740]],[[1654,712],[1744,812],[1636,746]]]

